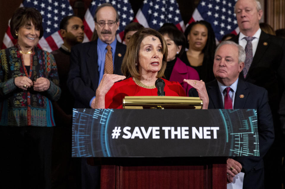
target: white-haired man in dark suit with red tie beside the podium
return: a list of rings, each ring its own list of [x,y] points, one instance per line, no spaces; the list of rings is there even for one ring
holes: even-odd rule
[[[209,109],[257,109],[260,156],[227,159],[228,182],[232,182],[233,177],[242,171],[245,173],[243,189],[257,189],[264,188],[262,158],[273,143],[274,128],[267,91],[238,78],[244,60],[243,47],[231,41],[221,42],[216,49],[213,64],[216,80],[207,83],[206,89]],[[189,96],[197,96],[197,91],[191,89]]]

